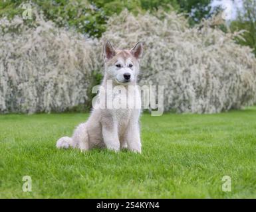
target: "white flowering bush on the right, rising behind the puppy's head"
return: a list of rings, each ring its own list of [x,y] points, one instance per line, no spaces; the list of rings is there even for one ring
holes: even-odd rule
[[[189,28],[184,17],[158,11],[134,17],[123,11],[108,21],[102,40],[118,48],[144,42],[140,84],[164,85],[164,109],[219,113],[255,102],[256,60],[251,49],[211,27]]]

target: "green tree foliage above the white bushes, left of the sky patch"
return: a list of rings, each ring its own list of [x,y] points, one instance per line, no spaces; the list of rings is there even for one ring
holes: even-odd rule
[[[172,6],[176,11],[190,14],[190,23],[193,24],[208,16],[209,7],[205,7],[210,0],[6,0],[0,2],[0,17],[22,15],[24,10],[21,4],[28,2],[43,11],[46,19],[54,21],[57,26],[71,26],[83,34],[100,37],[106,30],[108,18],[125,8],[136,15],[146,11],[154,12],[160,7],[168,11]]]

